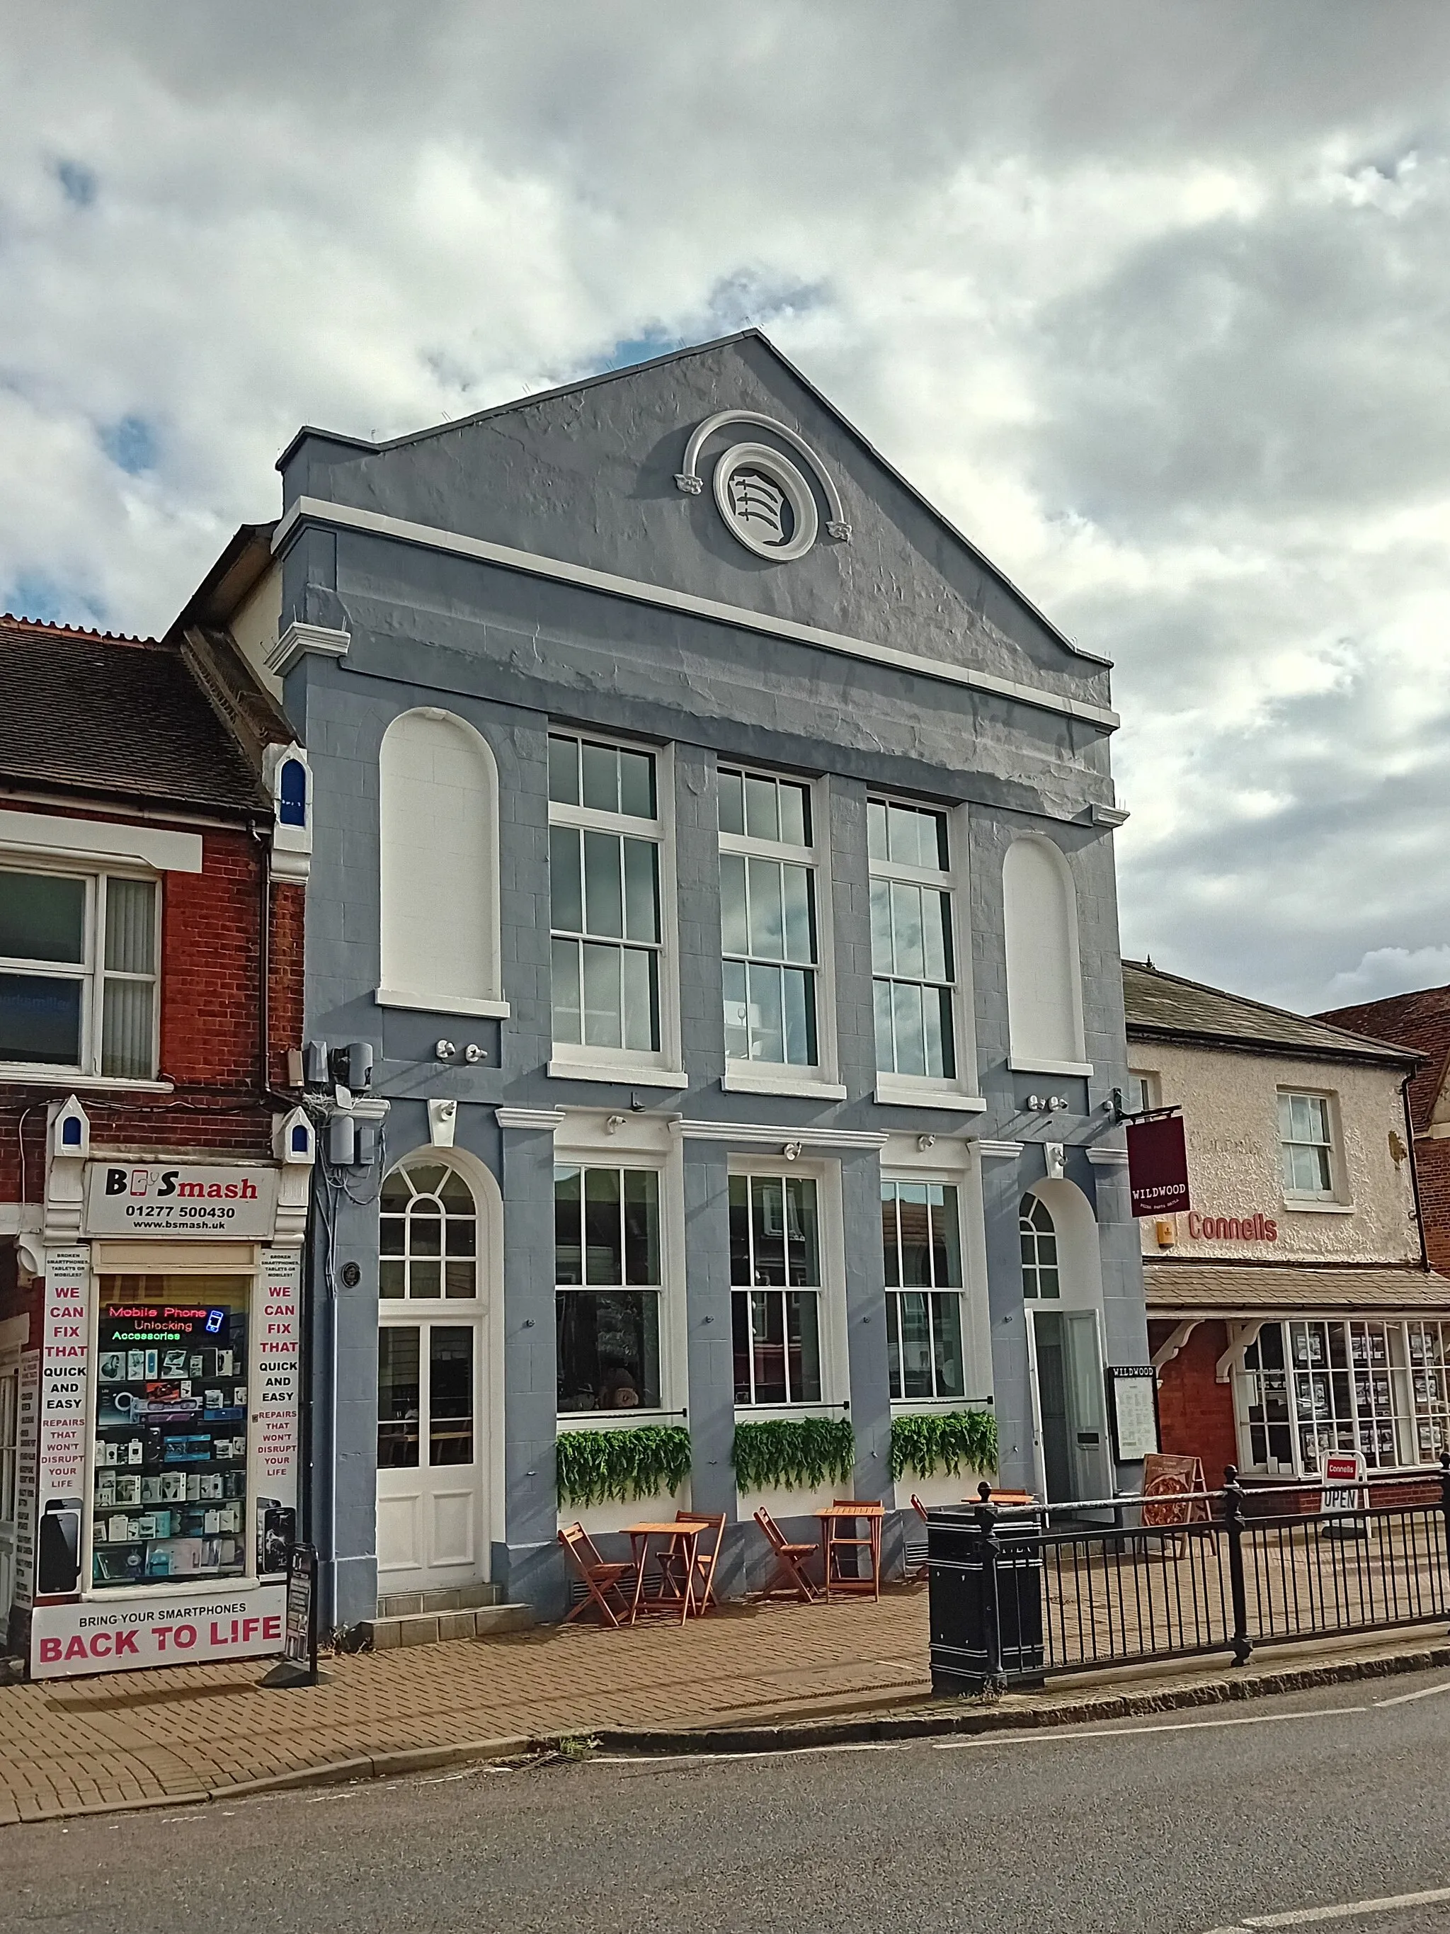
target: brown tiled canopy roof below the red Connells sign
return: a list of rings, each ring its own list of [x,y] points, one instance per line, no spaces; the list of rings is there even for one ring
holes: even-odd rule
[[[1272,1311],[1444,1311],[1450,1278],[1431,1269],[1344,1263],[1164,1263],[1145,1261],[1148,1315],[1233,1315]]]

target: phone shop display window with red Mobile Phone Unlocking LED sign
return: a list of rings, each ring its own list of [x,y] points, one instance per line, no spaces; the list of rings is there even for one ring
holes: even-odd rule
[[[247,1276],[101,1278],[95,1586],[246,1572],[249,1286]],[[43,1524],[43,1570],[44,1534]],[[52,1543],[64,1536],[64,1524],[50,1530]]]

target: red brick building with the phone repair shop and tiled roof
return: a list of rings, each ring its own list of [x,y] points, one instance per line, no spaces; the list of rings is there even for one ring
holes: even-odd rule
[[[275,1615],[313,1158],[288,741],[201,630],[0,619],[0,1636],[33,1669],[159,1663],[178,1592]]]

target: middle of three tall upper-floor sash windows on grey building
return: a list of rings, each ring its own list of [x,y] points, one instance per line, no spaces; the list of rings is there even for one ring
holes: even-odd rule
[[[845,1100],[826,781],[719,766],[725,1087]]]

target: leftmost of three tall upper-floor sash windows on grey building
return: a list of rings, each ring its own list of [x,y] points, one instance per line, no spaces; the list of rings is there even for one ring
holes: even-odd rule
[[[563,1060],[659,1058],[661,847],[655,754],[549,733],[553,1042]]]

